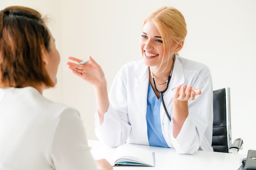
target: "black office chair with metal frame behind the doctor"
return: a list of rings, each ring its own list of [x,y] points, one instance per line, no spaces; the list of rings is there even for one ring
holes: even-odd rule
[[[230,118],[230,88],[213,91],[213,138],[215,152],[238,153],[243,140],[238,138],[232,144]]]

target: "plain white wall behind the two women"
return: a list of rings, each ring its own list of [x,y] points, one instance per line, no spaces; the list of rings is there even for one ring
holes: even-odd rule
[[[240,153],[256,149],[256,0],[0,0],[1,8],[13,4],[50,14],[50,29],[62,57],[59,70],[66,67],[69,55],[92,55],[105,71],[108,88],[121,65],[141,59],[138,43],[144,17],[162,5],[179,9],[188,29],[180,55],[207,64],[214,89],[231,88],[232,139],[244,140]],[[90,85],[62,72],[58,85],[44,94],[78,109],[88,138],[96,139]]]

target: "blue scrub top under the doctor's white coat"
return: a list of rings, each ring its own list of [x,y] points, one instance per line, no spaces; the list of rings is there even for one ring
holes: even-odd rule
[[[150,146],[160,146],[169,148],[167,145],[163,133],[160,120],[160,105],[162,102],[161,98],[157,98],[155,92],[150,84],[148,83],[148,99],[147,99],[147,127],[148,127],[148,142]]]

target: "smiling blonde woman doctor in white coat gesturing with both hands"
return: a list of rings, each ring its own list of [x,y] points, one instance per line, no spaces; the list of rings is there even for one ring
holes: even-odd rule
[[[180,154],[213,151],[211,73],[206,65],[177,55],[186,32],[177,9],[162,7],[151,13],[141,31],[143,60],[124,65],[109,93],[104,72],[91,56],[85,65],[67,62],[94,87],[96,134],[103,143],[170,147]]]

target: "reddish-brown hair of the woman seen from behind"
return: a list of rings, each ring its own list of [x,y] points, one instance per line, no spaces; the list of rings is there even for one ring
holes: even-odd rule
[[[45,70],[42,50],[51,35],[38,11],[11,6],[0,11],[0,87],[54,83]]]

